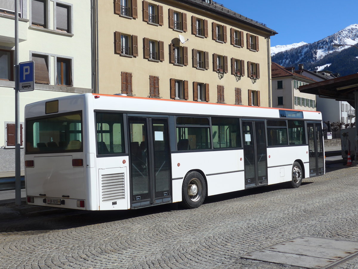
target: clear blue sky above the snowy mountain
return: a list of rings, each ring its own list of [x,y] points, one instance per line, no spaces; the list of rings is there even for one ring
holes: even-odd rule
[[[312,43],[358,23],[357,0],[216,2],[278,32],[271,37],[272,47],[301,41]]]

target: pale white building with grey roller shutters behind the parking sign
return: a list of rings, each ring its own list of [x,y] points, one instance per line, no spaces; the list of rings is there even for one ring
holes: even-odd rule
[[[92,1],[19,2],[19,62],[35,62],[35,90],[20,93],[22,140],[26,104],[92,92]],[[0,0],[0,177],[15,170],[14,14],[15,0]]]

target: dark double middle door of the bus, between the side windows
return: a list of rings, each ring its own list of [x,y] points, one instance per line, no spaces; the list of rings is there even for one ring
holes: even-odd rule
[[[267,151],[264,121],[242,121],[245,188],[267,184]]]

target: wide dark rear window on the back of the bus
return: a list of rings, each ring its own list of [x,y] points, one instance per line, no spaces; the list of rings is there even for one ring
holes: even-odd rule
[[[82,113],[64,113],[26,121],[26,153],[79,152]]]

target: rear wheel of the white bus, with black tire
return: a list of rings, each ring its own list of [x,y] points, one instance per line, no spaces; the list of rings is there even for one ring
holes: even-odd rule
[[[203,176],[197,171],[188,173],[183,181],[182,194],[186,208],[197,208],[204,202],[207,187]]]

